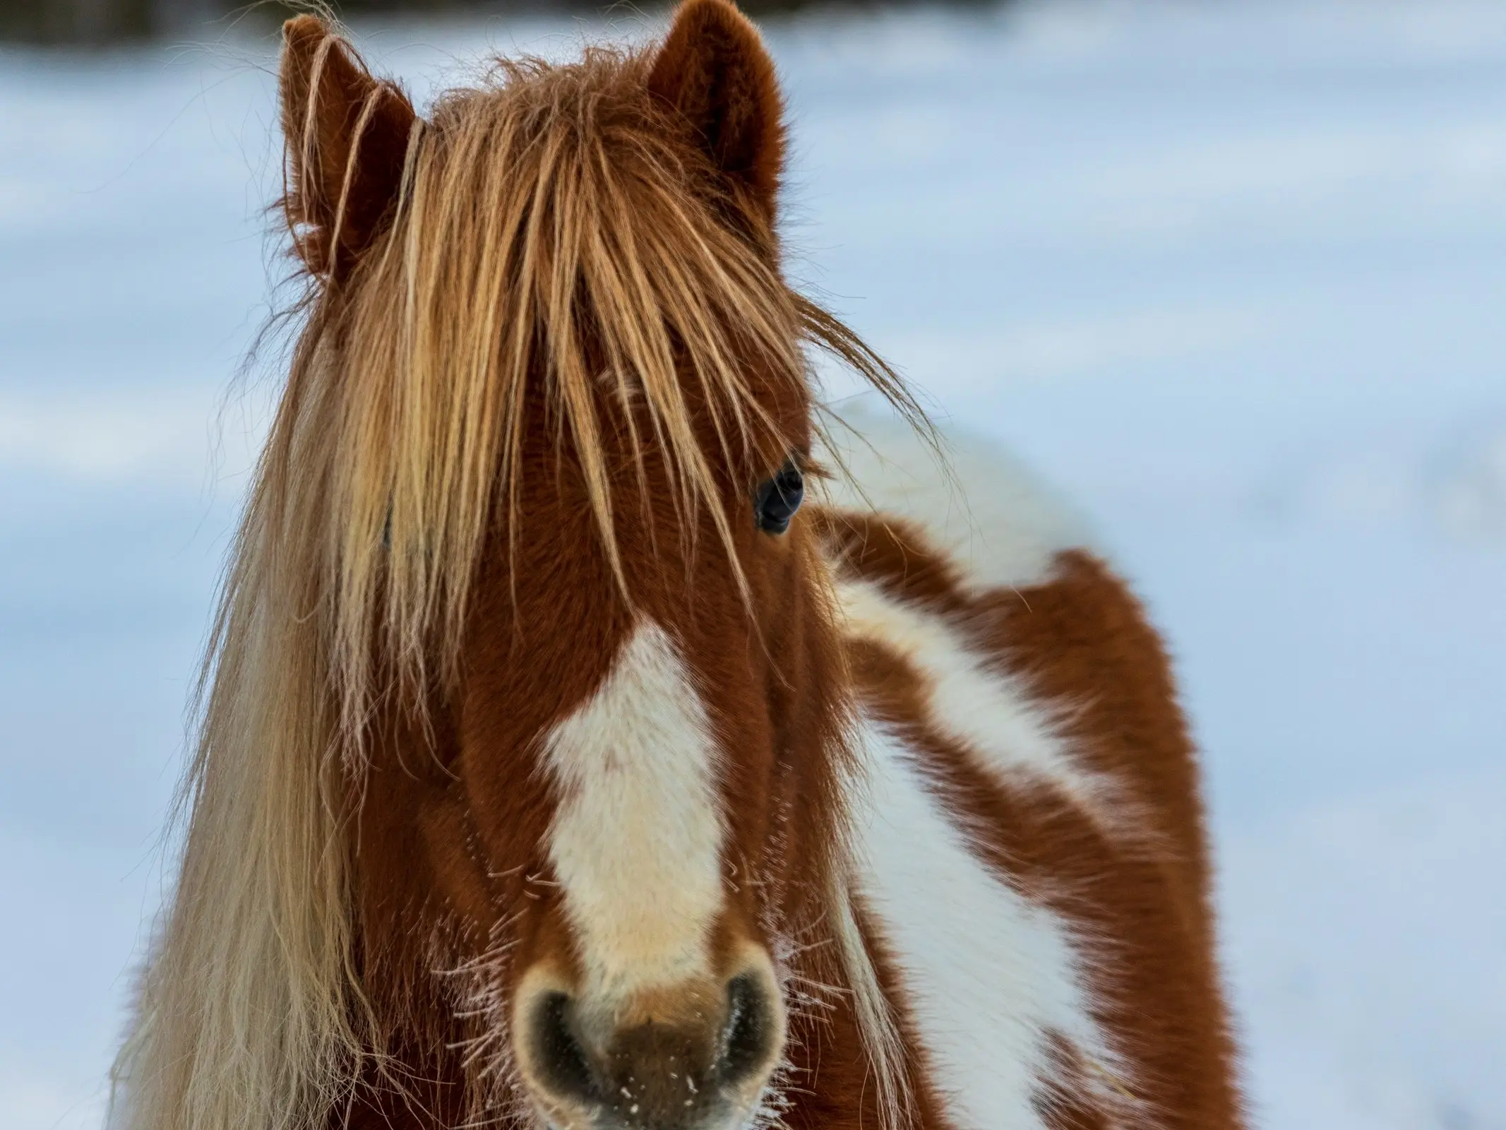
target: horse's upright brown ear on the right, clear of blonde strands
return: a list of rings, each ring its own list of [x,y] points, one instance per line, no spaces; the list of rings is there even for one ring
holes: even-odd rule
[[[654,59],[649,90],[685,116],[715,166],[773,221],[783,99],[758,29],[727,0],[685,0]]]

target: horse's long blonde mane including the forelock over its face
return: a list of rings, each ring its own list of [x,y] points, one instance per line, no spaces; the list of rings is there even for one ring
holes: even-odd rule
[[[410,136],[386,234],[348,279],[310,279],[205,660],[181,872],[116,1065],[120,1127],[322,1130],[380,1056],[345,799],[380,696],[446,678],[489,523],[515,500],[527,390],[580,460],[614,567],[601,381],[646,405],[634,443],[666,452],[682,503],[709,503],[724,539],[691,399],[724,444],[761,426],[750,357],[804,381],[810,344],[911,405],[783,282],[768,232],[727,223],[733,202],[708,196],[646,66],[592,48],[498,62],[446,95]]]

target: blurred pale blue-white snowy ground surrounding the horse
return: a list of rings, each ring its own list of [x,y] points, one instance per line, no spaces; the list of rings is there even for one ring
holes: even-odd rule
[[[575,32],[372,50],[422,92],[486,39]],[[798,273],[1075,494],[1167,630],[1261,1121],[1506,1128],[1506,8],[1063,0],[773,44]],[[267,295],[264,53],[0,54],[12,1130],[98,1124],[160,892],[261,420],[223,390]]]

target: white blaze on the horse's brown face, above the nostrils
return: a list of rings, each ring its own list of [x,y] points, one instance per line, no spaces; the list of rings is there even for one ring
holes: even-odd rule
[[[717,747],[675,642],[640,624],[596,693],[544,743],[548,854],[601,1003],[709,972],[721,909]]]

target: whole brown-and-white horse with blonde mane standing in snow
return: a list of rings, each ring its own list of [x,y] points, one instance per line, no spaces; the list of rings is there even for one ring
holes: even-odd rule
[[[280,107],[301,321],[114,1125],[1241,1125],[1164,648],[786,282],[753,24],[420,115],[301,15]]]

